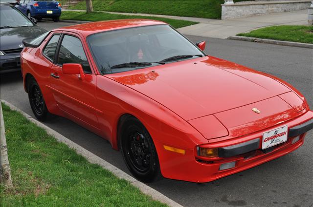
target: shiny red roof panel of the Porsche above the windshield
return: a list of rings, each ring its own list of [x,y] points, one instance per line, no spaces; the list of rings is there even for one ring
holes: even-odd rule
[[[76,24],[66,27],[61,27],[54,29],[53,31],[69,31],[69,32],[79,32],[85,37],[90,34],[126,29],[132,27],[141,27],[141,26],[150,26],[150,25],[159,25],[166,24],[163,21],[157,21],[152,19],[116,19],[116,20],[107,20],[107,21],[95,21],[88,22],[84,24]]]

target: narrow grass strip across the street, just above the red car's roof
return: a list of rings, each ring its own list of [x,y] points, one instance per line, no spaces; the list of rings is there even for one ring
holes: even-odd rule
[[[117,14],[109,14],[103,12],[93,12],[91,14],[87,14],[86,12],[72,12],[72,11],[64,11],[60,19],[71,19],[71,20],[84,20],[84,21],[101,21],[101,20],[112,20],[112,19],[155,19],[164,21],[175,28],[186,27],[193,24],[197,24],[199,22],[194,21],[185,21],[185,20],[177,20],[177,19],[167,19],[167,18],[158,18],[158,17],[143,17],[143,16],[129,16],[129,15],[117,15]]]

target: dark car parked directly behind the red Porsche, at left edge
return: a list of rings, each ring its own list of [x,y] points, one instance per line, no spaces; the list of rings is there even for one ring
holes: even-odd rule
[[[0,2],[1,74],[21,70],[20,54],[24,47],[22,39],[35,38],[46,32],[33,21],[13,5]]]

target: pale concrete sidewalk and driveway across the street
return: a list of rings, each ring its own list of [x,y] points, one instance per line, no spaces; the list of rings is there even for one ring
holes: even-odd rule
[[[71,10],[66,11],[82,11]],[[228,38],[239,33],[248,32],[260,27],[274,26],[274,25],[308,25],[308,10],[298,10],[292,12],[273,13],[268,15],[258,15],[240,19],[203,19],[193,17],[177,17],[168,15],[154,15],[154,14],[134,14],[134,13],[120,13],[120,12],[105,12],[110,14],[121,15],[139,15],[164,17],[169,19],[181,19],[200,22],[187,27],[179,28],[178,31],[184,35],[202,36],[207,38]]]

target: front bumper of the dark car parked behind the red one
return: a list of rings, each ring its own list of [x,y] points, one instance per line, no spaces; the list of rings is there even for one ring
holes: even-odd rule
[[[21,71],[20,54],[0,56],[0,73]]]

